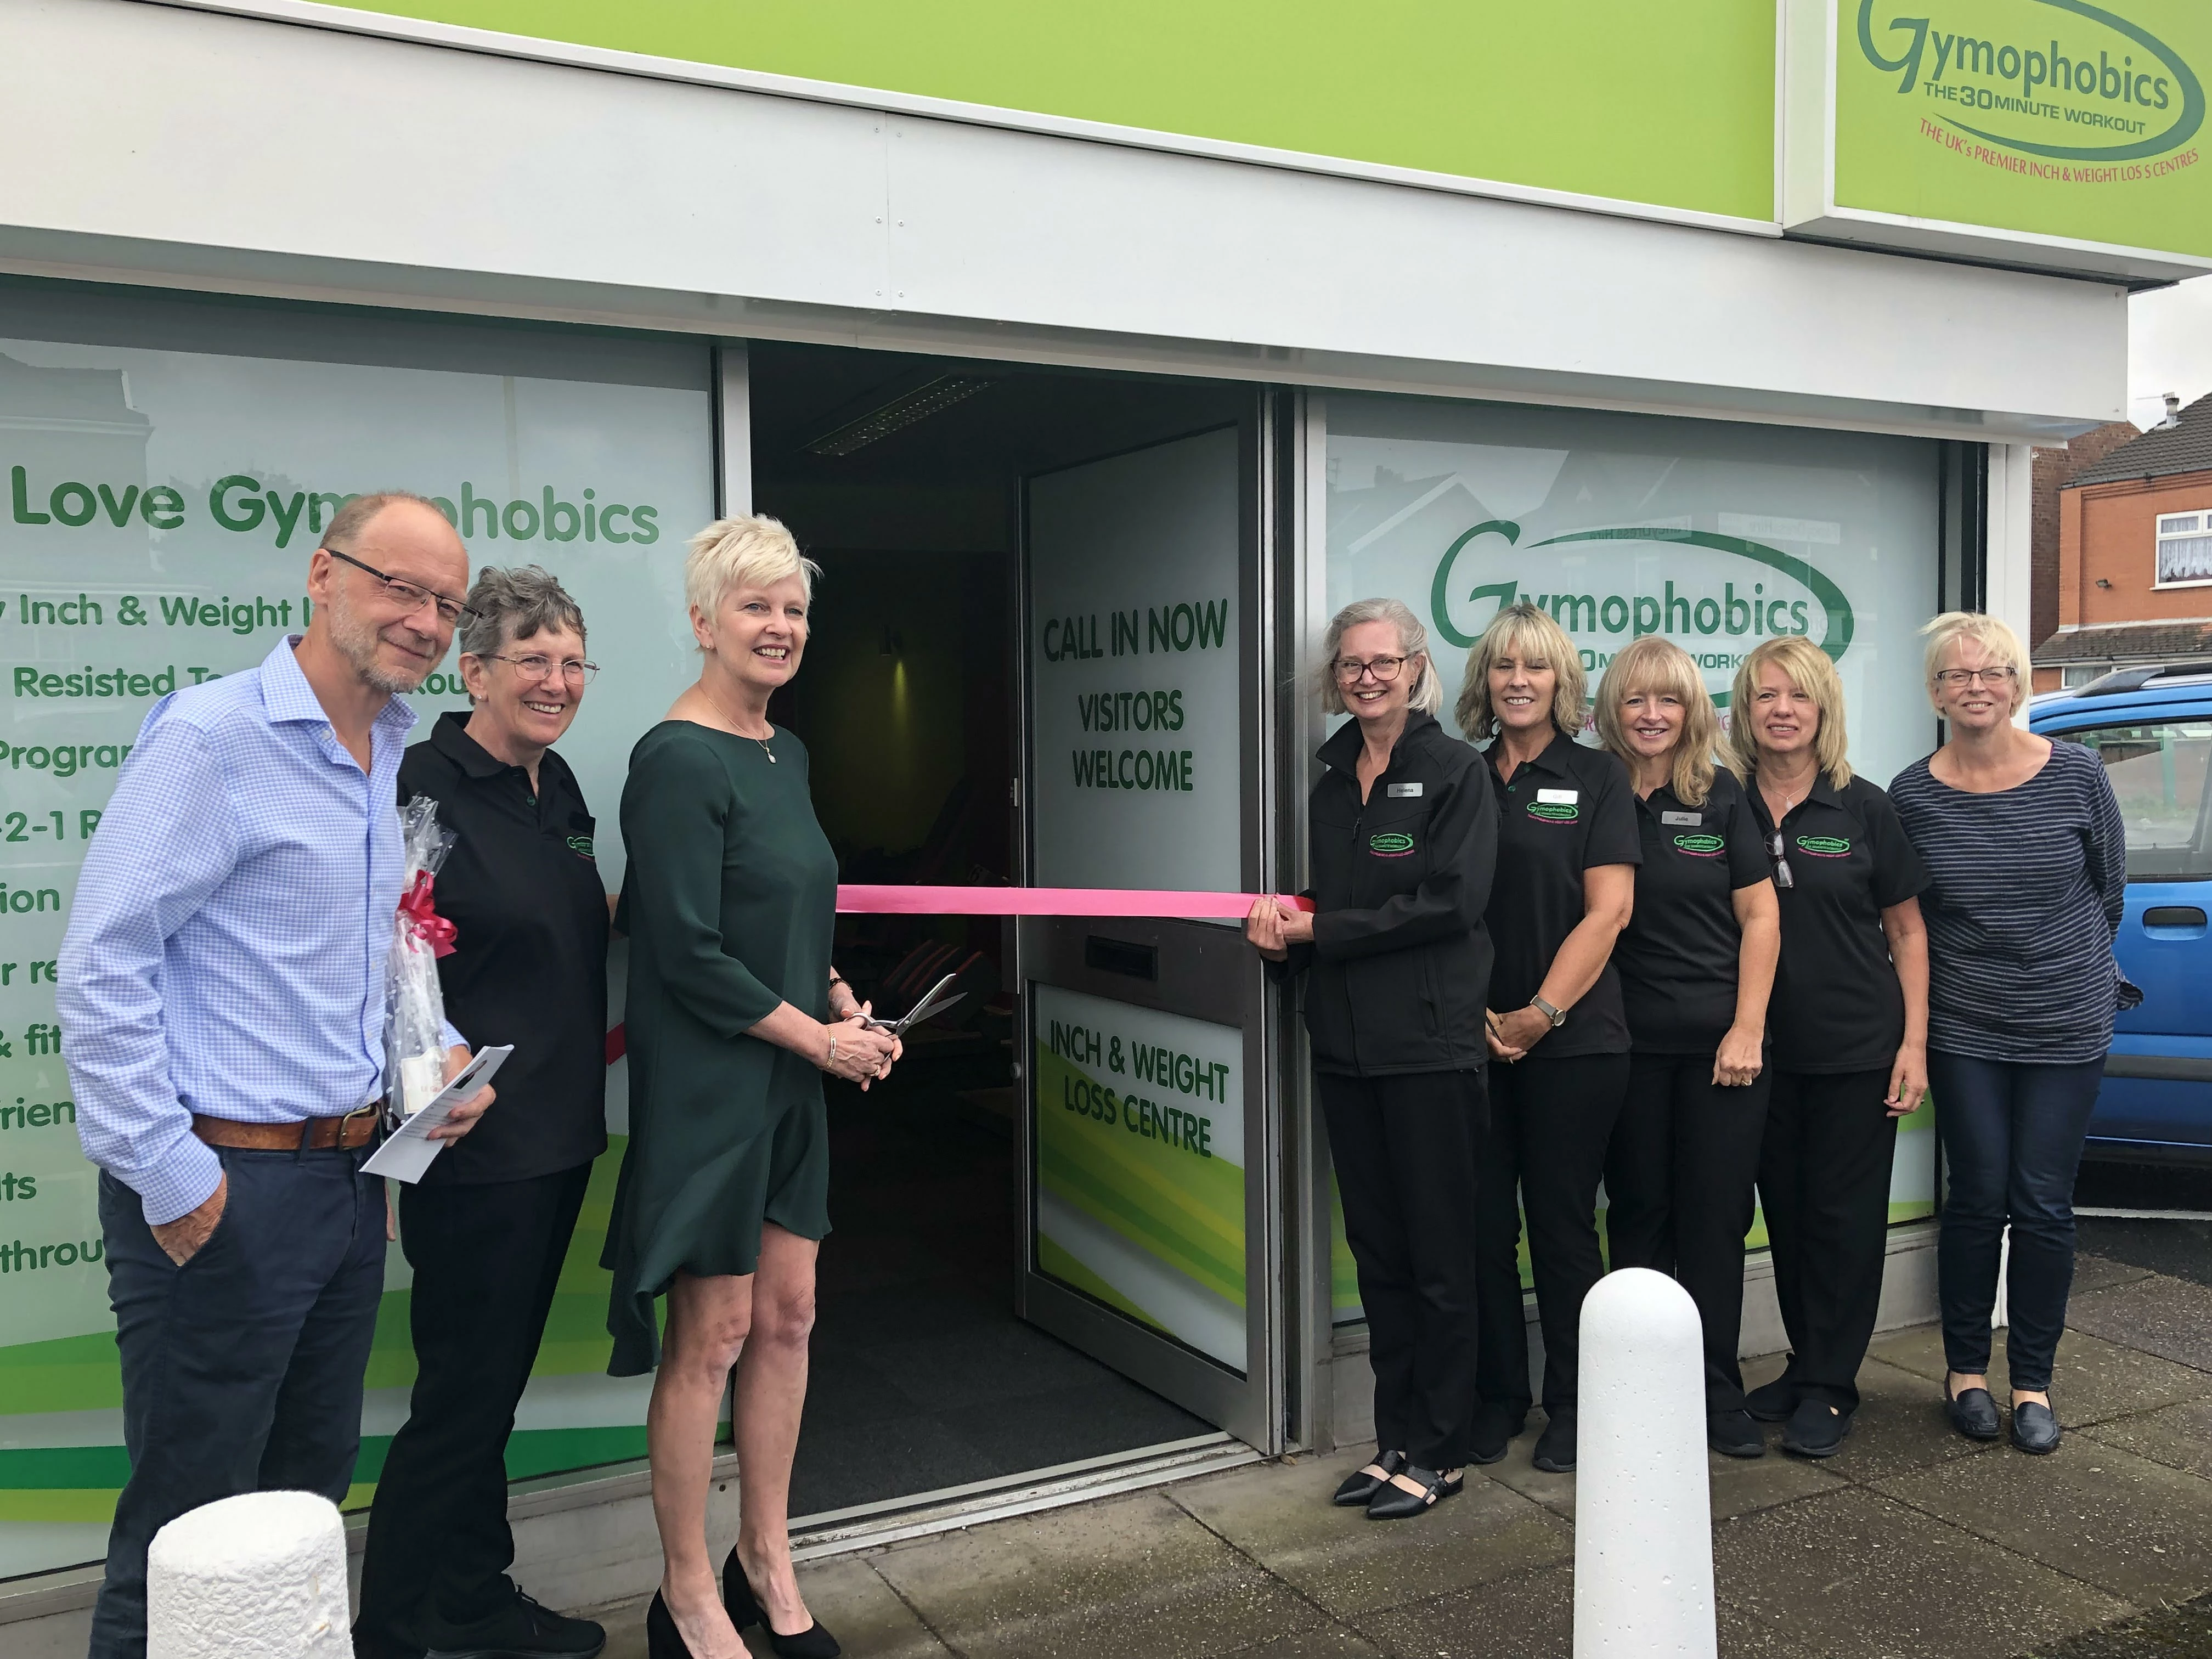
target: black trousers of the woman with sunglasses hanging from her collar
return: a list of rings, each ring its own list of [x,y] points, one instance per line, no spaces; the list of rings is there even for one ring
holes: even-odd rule
[[[1759,1152],[1759,1201],[1774,1248],[1774,1294],[1790,1332],[1783,1376],[1798,1398],[1858,1409],[1858,1363],[1874,1338],[1889,1241],[1898,1119],[1889,1068],[1778,1071]]]

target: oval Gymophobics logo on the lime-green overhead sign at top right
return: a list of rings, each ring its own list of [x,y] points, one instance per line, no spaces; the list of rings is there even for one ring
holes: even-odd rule
[[[2015,155],[2135,161],[2179,150],[2205,119],[2181,53],[2088,0],[1947,0],[1922,18],[1876,18],[1876,2],[1858,0],[1858,51],[1898,77],[1900,97]]]

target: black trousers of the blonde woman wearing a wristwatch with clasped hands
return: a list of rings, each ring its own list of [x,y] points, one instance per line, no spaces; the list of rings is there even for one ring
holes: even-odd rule
[[[1520,1294],[1520,1223],[1544,1325],[1544,1409],[1575,1409],[1582,1298],[1606,1261],[1597,1248],[1597,1183],[1628,1091],[1628,1055],[1491,1066],[1491,1137],[1475,1201],[1475,1290],[1482,1338],[1475,1363],[1484,1405],[1528,1409],[1528,1325]],[[1515,1203],[1517,1194],[1517,1203]]]

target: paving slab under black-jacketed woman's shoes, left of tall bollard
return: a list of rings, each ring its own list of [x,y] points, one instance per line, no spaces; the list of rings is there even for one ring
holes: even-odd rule
[[[1489,1584],[1575,1553],[1555,1513],[1489,1480],[1469,1480],[1427,1515],[1371,1522],[1329,1493],[1365,1451],[1254,1464],[1170,1486],[1175,1502],[1329,1613],[1365,1613]]]

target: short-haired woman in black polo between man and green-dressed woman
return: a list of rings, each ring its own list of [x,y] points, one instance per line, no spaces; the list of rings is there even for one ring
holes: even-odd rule
[[[438,914],[447,1015],[480,1046],[511,1042],[509,1110],[484,1115],[400,1188],[414,1267],[416,1387],[369,1511],[363,1648],[591,1655],[606,1632],[507,1577],[507,1436],[538,1360],[553,1285],[606,1150],[606,887],[575,772],[553,752],[593,666],[584,613],[538,566],[469,588],[460,677],[471,710],[440,714],[400,761],[400,801],[427,794],[453,849]]]

